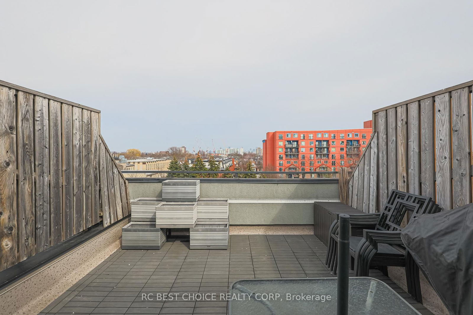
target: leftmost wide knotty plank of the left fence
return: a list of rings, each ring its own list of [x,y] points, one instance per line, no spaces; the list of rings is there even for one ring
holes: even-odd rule
[[[18,262],[15,90],[0,86],[0,270]]]

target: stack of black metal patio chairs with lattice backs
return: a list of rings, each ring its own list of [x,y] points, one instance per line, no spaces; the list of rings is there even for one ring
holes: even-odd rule
[[[356,277],[369,275],[370,266],[379,266],[387,275],[387,266],[406,268],[409,293],[420,297],[419,270],[412,257],[406,252],[401,240],[401,224],[404,218],[410,222],[422,214],[437,213],[441,210],[430,197],[392,190],[388,201],[380,213],[350,216],[352,236],[350,236],[350,255],[352,269]],[[362,227],[362,234],[356,233]],[[337,271],[338,221],[329,230],[329,244],[325,264],[334,273]]]

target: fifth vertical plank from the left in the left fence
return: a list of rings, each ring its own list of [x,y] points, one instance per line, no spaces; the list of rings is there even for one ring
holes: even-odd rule
[[[72,106],[62,103],[62,239],[74,235]]]

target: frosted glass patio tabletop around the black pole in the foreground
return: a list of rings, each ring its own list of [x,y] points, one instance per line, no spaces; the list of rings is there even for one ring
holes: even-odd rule
[[[233,283],[229,314],[336,315],[337,278],[252,279]],[[384,282],[349,279],[350,315],[420,315]]]

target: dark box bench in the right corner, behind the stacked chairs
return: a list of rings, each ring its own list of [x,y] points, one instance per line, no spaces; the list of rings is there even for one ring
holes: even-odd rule
[[[330,226],[338,215],[345,213],[364,214],[365,212],[350,207],[342,202],[314,202],[314,235],[328,245]]]

